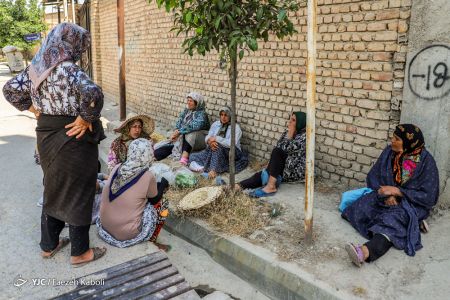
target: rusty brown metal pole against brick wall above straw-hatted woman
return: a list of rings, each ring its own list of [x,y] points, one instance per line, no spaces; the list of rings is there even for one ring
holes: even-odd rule
[[[117,33],[119,50],[119,104],[120,120],[126,118],[126,86],[125,86],[125,0],[117,0]]]

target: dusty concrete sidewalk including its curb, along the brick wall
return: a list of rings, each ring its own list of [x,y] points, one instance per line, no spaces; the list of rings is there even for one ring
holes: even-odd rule
[[[118,106],[106,101],[102,113],[111,129],[120,122]],[[158,128],[166,133],[167,128]],[[244,171],[237,178],[250,174]],[[430,233],[422,235],[424,248],[415,257],[390,250],[375,263],[354,267],[344,250],[346,242],[361,237],[337,209],[345,187],[318,182],[314,202],[314,243],[303,242],[303,184],[284,184],[266,201],[280,203],[280,217],[248,238],[226,236],[198,219],[169,218],[167,230],[205,249],[223,266],[274,299],[448,299],[450,295],[450,212],[440,211],[429,220]]]

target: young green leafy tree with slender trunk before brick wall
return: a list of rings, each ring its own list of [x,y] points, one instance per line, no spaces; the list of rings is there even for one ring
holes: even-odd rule
[[[148,0],[152,2],[152,0]],[[282,39],[296,32],[288,18],[299,9],[299,0],[156,0],[174,13],[172,30],[184,33],[182,44],[189,55],[217,50],[228,62],[231,94],[230,186],[235,184],[236,81],[238,60],[258,50],[258,40],[274,34]]]

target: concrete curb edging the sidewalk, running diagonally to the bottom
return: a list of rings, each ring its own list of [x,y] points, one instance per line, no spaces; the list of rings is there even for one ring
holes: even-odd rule
[[[273,299],[343,299],[300,268],[240,238],[224,238],[189,218],[169,217],[165,229],[204,249],[219,264]],[[257,253],[257,254],[256,254]],[[290,270],[291,269],[291,270]]]

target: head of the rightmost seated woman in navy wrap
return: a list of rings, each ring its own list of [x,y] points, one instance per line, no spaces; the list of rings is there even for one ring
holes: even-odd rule
[[[425,146],[422,131],[413,124],[400,124],[395,127],[391,138],[392,151],[412,153]]]

